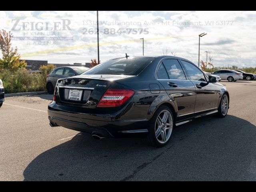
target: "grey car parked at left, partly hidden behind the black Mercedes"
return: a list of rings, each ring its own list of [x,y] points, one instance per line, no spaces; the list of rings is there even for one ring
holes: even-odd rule
[[[47,92],[49,94],[53,94],[58,79],[80,75],[88,69],[90,68],[82,66],[67,66],[54,68],[46,78]]]

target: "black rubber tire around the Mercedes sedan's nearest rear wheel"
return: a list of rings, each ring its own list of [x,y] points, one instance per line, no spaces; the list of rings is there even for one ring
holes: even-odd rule
[[[171,118],[172,118],[172,128],[168,128],[168,139],[166,139],[165,143],[161,143],[158,138],[156,138],[156,125],[157,125],[157,118],[160,114],[163,113],[163,111],[166,112],[166,110],[170,113],[171,115]],[[168,118],[169,119],[169,118]],[[150,144],[151,146],[154,146],[154,147],[163,147],[165,146],[169,141],[170,141],[170,138],[171,138],[171,134],[172,134],[172,130],[174,128],[174,118],[173,118],[173,114],[172,114],[172,111],[170,110],[170,108],[168,108],[167,106],[161,106],[160,108],[158,108],[156,110],[156,112],[154,113],[154,116],[151,118],[150,120],[150,125],[149,125],[149,128],[148,128],[148,134],[146,136],[146,141],[148,142],[148,144]],[[170,133],[169,133],[170,132]],[[165,134],[166,136],[167,134]],[[162,134],[159,135],[160,137],[162,137]],[[158,136],[158,137],[159,137]],[[167,137],[167,136],[166,136]]]

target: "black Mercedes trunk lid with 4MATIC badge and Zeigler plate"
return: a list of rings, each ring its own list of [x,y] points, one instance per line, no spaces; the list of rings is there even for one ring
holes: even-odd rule
[[[59,79],[56,87],[56,102],[83,108],[96,108],[104,92],[117,80],[131,75],[79,75]]]

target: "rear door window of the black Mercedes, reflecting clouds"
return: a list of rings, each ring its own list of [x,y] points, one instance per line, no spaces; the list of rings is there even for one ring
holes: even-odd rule
[[[166,59],[163,61],[163,64],[170,79],[186,79],[178,60]]]

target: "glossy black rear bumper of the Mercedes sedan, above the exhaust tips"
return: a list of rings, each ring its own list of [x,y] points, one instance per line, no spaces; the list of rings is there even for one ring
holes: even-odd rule
[[[100,134],[104,137],[122,137],[124,135],[145,134],[148,132],[148,120],[115,120],[114,114],[102,118],[96,114],[82,114],[60,110],[59,104],[52,102],[48,106],[48,119],[52,126]],[[110,118],[111,117],[111,118]]]

